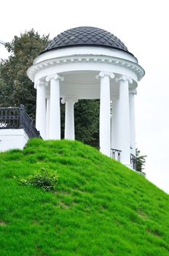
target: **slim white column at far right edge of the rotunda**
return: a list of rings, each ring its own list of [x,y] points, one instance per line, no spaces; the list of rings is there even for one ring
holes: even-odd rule
[[[135,156],[135,94],[136,90],[129,91],[130,105],[130,151]]]

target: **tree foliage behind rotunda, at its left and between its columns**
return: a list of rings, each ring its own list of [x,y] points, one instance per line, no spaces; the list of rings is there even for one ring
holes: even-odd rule
[[[0,64],[0,107],[18,107],[23,104],[28,115],[35,120],[36,89],[26,72],[48,42],[49,35],[41,37],[31,29],[7,43],[6,47],[11,56]],[[65,106],[61,104],[60,107],[63,138]],[[74,112],[76,140],[98,146],[98,100],[79,100]]]

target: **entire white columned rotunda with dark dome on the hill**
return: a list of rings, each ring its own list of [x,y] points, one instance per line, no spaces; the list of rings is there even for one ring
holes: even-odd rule
[[[60,98],[66,105],[65,139],[74,140],[74,103],[100,99],[100,151],[131,167],[135,155],[134,97],[144,69],[113,34],[93,27],[69,29],[52,39],[28,69],[36,94],[36,129],[60,140]]]

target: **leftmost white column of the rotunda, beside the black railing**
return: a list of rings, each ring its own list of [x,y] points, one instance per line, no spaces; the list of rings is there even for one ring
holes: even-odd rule
[[[45,82],[36,83],[36,129],[42,139],[46,138],[46,86]]]

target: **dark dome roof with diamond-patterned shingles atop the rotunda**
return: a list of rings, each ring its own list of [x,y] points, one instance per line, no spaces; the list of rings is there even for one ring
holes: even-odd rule
[[[114,48],[129,53],[124,43],[115,37],[114,34],[91,26],[79,26],[58,34],[57,37],[50,41],[50,44],[42,53],[60,48],[87,45]]]

